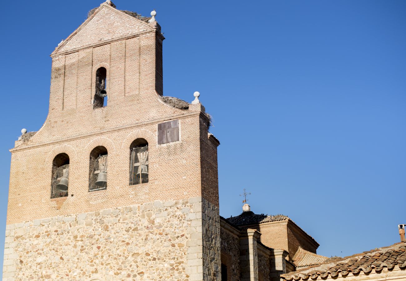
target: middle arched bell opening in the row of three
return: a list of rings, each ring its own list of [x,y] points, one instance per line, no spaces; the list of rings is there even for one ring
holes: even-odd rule
[[[107,188],[107,149],[93,148],[89,156],[89,191]]]

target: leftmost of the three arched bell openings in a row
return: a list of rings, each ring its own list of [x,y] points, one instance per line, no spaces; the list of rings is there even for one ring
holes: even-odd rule
[[[52,161],[51,198],[68,196],[69,156],[59,153]]]

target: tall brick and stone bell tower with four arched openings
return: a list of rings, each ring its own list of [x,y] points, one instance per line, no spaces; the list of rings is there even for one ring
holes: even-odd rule
[[[163,96],[161,28],[106,1],[52,52],[11,149],[3,280],[220,280],[217,139]],[[29,180],[28,180],[29,179]]]

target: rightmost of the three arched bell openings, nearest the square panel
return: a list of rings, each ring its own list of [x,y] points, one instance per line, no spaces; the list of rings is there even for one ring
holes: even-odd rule
[[[148,182],[148,142],[137,138],[130,145],[130,185]]]

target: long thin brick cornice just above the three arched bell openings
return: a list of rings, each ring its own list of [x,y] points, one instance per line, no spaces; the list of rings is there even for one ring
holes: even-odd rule
[[[30,149],[30,148],[41,147],[41,146],[46,146],[46,145],[53,145],[55,143],[62,143],[62,142],[67,142],[67,141],[73,141],[73,140],[77,140],[77,139],[80,139],[80,138],[87,138],[89,136],[97,136],[97,135],[102,135],[102,134],[106,134],[106,133],[110,133],[110,132],[117,132],[117,131],[121,131],[121,130],[127,130],[127,129],[136,128],[136,127],[140,127],[140,126],[144,126],[144,125],[151,125],[151,124],[155,124],[155,123],[160,123],[160,122],[164,122],[164,121],[168,121],[168,120],[172,120],[172,119],[183,119],[183,118],[187,118],[187,117],[191,117],[191,116],[195,116],[195,115],[200,115],[200,113],[201,113],[200,111],[189,112],[189,113],[185,113],[185,114],[181,114],[181,115],[168,116],[168,117],[164,117],[164,118],[160,118],[160,119],[135,123],[135,124],[132,124],[132,125],[125,125],[125,126],[121,126],[121,127],[117,127],[117,128],[108,129],[108,130],[102,130],[102,131],[98,131],[98,132],[91,132],[91,133],[88,133],[88,134],[82,134],[82,135],[78,135],[78,136],[71,136],[69,138],[62,138],[62,139],[55,140],[55,141],[48,141],[48,142],[45,142],[45,143],[38,143],[38,144],[35,144],[35,145],[27,145],[27,146],[24,146],[24,147],[15,147],[15,148],[10,149],[10,152],[13,153],[15,151],[20,151],[20,150],[24,150],[24,149]],[[204,116],[204,115],[202,114],[201,116]]]

